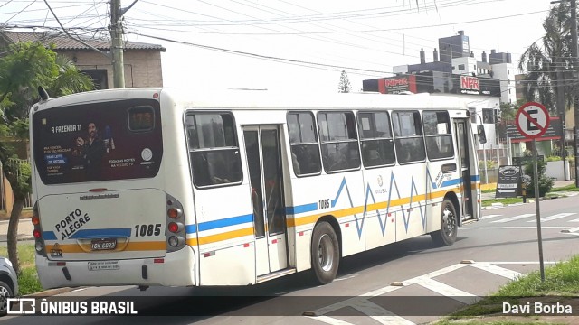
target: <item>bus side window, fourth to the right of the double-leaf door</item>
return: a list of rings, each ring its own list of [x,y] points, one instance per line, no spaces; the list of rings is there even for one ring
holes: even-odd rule
[[[398,163],[424,161],[426,152],[420,113],[418,111],[394,111],[392,124]]]

